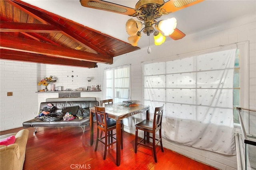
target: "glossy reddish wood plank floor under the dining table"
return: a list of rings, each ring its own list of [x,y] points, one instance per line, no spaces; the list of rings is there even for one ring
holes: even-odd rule
[[[17,128],[0,132],[0,135],[18,132]],[[26,147],[24,170],[216,170],[186,156],[165,149],[157,148],[158,162],[154,162],[152,150],[138,146],[134,153],[135,136],[123,133],[124,149],[121,151],[121,164],[116,166],[116,145],[107,151],[103,160],[104,145],[98,144],[94,152],[96,125],[94,124],[94,144],[90,146],[90,127],[83,133],[80,127],[39,127],[38,133],[29,132]]]

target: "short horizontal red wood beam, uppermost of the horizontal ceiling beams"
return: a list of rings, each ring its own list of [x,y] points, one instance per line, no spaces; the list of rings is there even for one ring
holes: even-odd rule
[[[47,24],[0,21],[0,32],[60,33],[61,31]]]

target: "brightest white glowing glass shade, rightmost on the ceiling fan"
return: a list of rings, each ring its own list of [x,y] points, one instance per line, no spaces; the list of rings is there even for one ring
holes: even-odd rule
[[[171,35],[177,26],[176,18],[172,17],[168,20],[158,21],[157,28],[164,33],[165,36]]]

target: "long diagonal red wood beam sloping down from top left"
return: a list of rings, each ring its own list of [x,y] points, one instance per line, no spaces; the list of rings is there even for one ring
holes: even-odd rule
[[[101,55],[105,55],[108,58],[112,58],[110,57],[105,51],[103,51],[102,49],[99,49],[98,47],[92,45],[90,42],[86,41],[85,39],[83,39],[82,37],[78,36],[77,34],[75,34],[74,32],[70,31],[69,29],[67,29],[66,27],[62,26],[61,24],[57,23],[56,21],[52,20],[51,18],[49,18],[46,14],[48,14],[49,12],[42,10],[44,13],[40,13],[38,12],[38,8],[31,6],[29,4],[26,4],[25,2],[22,2],[20,0],[12,0],[14,3],[16,3],[18,6],[20,6],[21,8],[23,8],[24,10],[34,14],[35,16],[37,16],[37,18],[41,18],[42,20],[46,21],[47,23],[54,25],[58,28],[60,28],[62,30],[62,33],[64,35],[66,35],[67,37],[69,37],[70,39],[76,41],[77,43],[84,45],[90,49],[92,49],[93,51],[97,51],[98,53],[100,53]],[[51,13],[49,13],[50,15],[52,15]]]

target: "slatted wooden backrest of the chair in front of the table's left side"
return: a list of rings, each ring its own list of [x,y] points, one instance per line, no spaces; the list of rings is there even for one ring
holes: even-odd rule
[[[96,121],[97,121],[97,126],[100,127],[102,131],[106,130],[106,112],[105,112],[105,107],[95,107],[95,114],[96,114]]]

